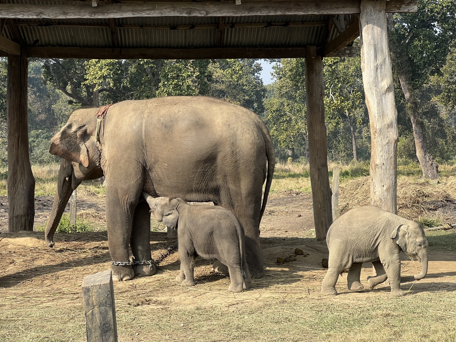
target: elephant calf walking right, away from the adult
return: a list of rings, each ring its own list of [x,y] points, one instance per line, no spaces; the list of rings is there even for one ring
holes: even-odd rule
[[[369,289],[389,279],[391,295],[403,296],[404,291],[400,289],[401,250],[422,261],[416,280],[427,273],[428,242],[421,225],[377,207],[354,208],[337,218],[328,230],[326,244],[329,260],[321,284],[323,295],[337,295],[337,279],[345,269],[349,269],[348,290],[362,290],[361,266],[372,262],[377,276],[368,277]]]

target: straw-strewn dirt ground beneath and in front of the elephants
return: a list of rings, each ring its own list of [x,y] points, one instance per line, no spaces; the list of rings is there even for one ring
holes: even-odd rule
[[[404,298],[391,298],[384,285],[350,292],[347,274],[339,279],[340,295],[321,296],[326,244],[309,233],[313,228],[311,195],[291,195],[276,194],[268,201],[261,223],[265,271],[261,279],[253,280],[252,290],[228,292],[228,277],[211,272],[207,260],[197,263],[197,285],[184,288],[174,281],[179,269],[177,253],[166,258],[154,276],[115,282],[119,341],[339,341],[344,337],[371,341],[363,339],[362,329],[376,331],[378,324],[385,325],[386,337],[372,341],[390,341],[388,336],[407,337],[394,326],[399,324],[405,303],[412,306],[407,310],[420,306],[425,315],[437,315],[436,319],[449,326],[456,322],[455,310],[439,313],[439,304],[431,306],[432,301],[440,300],[456,304],[454,251],[431,251],[428,275],[420,281],[413,278],[420,264],[404,254],[402,289],[409,290]],[[4,199],[0,202],[0,207],[6,207]],[[85,207],[84,202],[78,203],[81,210],[91,206],[104,212],[103,204],[86,202]],[[42,197],[36,206],[38,222],[46,223],[52,201]],[[153,257],[173,243],[165,233],[152,232]],[[276,263],[278,257],[293,255],[296,248],[304,254],[289,263]],[[1,233],[0,341],[85,341],[82,280],[109,264],[106,232],[57,233],[53,249],[45,246],[41,232]],[[364,283],[372,270],[369,264],[363,266]],[[326,316],[319,316],[323,314]],[[327,317],[333,321],[325,321]],[[409,316],[407,321],[413,331],[414,324],[425,324]],[[356,335],[359,331],[363,338]],[[454,328],[445,334],[456,337]]]

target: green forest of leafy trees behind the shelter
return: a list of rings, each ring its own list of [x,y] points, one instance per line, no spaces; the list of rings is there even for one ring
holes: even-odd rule
[[[399,163],[437,177],[456,156],[456,2],[422,0],[416,13],[388,15],[398,109]],[[359,45],[358,41],[354,42]],[[308,162],[305,60],[275,59],[264,85],[254,59],[29,59],[32,164],[57,162],[51,137],[81,106],[166,95],[207,95],[239,104],[269,127],[280,160]],[[325,116],[331,161],[368,161],[370,130],[360,57],[324,58]],[[7,62],[0,59],[0,166],[7,164]]]

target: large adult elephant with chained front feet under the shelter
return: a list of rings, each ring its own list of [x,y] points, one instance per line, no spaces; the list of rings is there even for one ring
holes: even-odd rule
[[[155,273],[155,267],[140,264],[151,259],[150,213],[149,206],[139,202],[142,191],[153,197],[214,202],[233,211],[244,226],[250,272],[254,277],[263,274],[259,223],[275,153],[258,115],[215,98],[184,96],[113,104],[98,125],[97,112],[74,111],[51,140],[49,151],[61,157],[62,164],[46,227],[48,246],[54,245],[54,232],[73,190],[83,180],[104,175],[113,280]]]

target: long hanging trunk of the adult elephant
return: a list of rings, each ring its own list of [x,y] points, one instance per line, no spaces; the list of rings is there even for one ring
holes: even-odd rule
[[[46,244],[49,247],[53,247],[55,244],[54,233],[57,229],[60,219],[62,218],[63,211],[67,206],[70,196],[73,193],[72,174],[73,166],[70,162],[62,159],[58,173],[57,189],[54,196],[54,203],[52,204],[52,211],[49,215],[46,231],[44,233]]]

